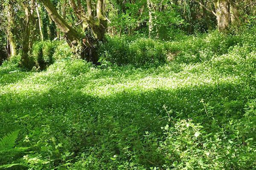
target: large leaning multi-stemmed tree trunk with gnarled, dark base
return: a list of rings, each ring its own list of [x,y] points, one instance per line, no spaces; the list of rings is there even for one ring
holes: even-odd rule
[[[87,0],[87,15],[81,6],[81,1],[69,0],[70,6],[73,8],[76,17],[82,23],[82,28],[86,29],[88,26],[93,32],[94,39],[89,40],[88,37],[80,35],[79,32],[69,26],[67,22],[58,14],[55,7],[50,0],[40,0],[46,8],[51,19],[56,23],[58,28],[64,32],[67,43],[75,54],[79,54],[81,58],[96,63],[98,56],[96,54],[95,43],[103,41],[105,36],[105,30],[107,28],[107,19],[103,14],[103,0],[97,1],[96,17],[93,13],[93,3]]]

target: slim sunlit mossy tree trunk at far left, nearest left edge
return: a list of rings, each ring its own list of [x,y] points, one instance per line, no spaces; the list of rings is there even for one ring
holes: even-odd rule
[[[13,1],[9,0],[7,4],[7,38],[9,41],[10,47],[10,56],[15,56],[17,54],[17,45],[15,40],[15,24],[14,24],[14,10],[13,10]]]

